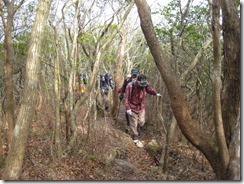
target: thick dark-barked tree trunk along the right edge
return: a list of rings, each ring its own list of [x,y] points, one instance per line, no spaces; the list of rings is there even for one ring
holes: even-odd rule
[[[224,39],[222,116],[229,146],[240,107],[240,18],[237,1],[221,0],[220,2]]]

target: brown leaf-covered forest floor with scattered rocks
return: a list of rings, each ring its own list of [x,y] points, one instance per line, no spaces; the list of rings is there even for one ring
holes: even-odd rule
[[[152,153],[147,145],[155,140],[162,148],[164,136],[155,133],[153,125],[146,123],[140,136],[144,147],[137,147],[125,131],[123,109],[117,122],[106,113],[105,117],[96,121],[88,118],[84,123],[82,112],[77,118],[76,146],[61,160],[57,159],[52,146],[54,119],[48,113],[38,115],[31,125],[20,180],[215,180],[215,174],[202,154],[189,143],[178,140],[173,140],[170,146],[168,174],[163,174],[159,166],[162,149]],[[65,147],[62,145],[63,149]]]

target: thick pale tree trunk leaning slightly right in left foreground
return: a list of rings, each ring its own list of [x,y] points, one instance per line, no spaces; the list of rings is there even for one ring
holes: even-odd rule
[[[23,101],[17,117],[17,124],[14,129],[11,149],[9,151],[4,169],[4,180],[17,180],[20,176],[29,134],[29,125],[34,115],[41,41],[44,35],[50,4],[51,0],[38,1],[37,14],[35,17],[30,48],[27,57],[26,81],[23,92]]]

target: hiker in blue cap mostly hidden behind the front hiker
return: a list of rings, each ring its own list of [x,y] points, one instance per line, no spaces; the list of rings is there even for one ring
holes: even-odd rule
[[[131,76],[127,77],[124,80],[122,87],[120,87],[119,90],[118,90],[118,93],[120,93],[120,95],[119,95],[119,99],[120,100],[122,100],[124,98],[124,93],[125,93],[126,86],[130,82],[136,80],[137,76],[138,76],[138,70],[137,69],[132,69],[131,70]],[[129,120],[129,116],[128,116],[128,114],[126,112],[125,112],[125,118],[126,118],[127,125],[129,126],[130,125],[130,120]]]

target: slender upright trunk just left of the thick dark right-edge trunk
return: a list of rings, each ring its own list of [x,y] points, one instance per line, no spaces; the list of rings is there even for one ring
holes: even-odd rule
[[[229,151],[227,148],[222,111],[221,111],[221,44],[220,44],[220,5],[219,0],[213,0],[212,4],[212,34],[213,34],[213,51],[214,51],[214,71],[213,71],[213,109],[214,124],[216,129],[216,139],[219,147],[219,154],[223,170],[217,175],[226,177],[227,167],[229,164]],[[225,171],[225,172],[223,172]]]

